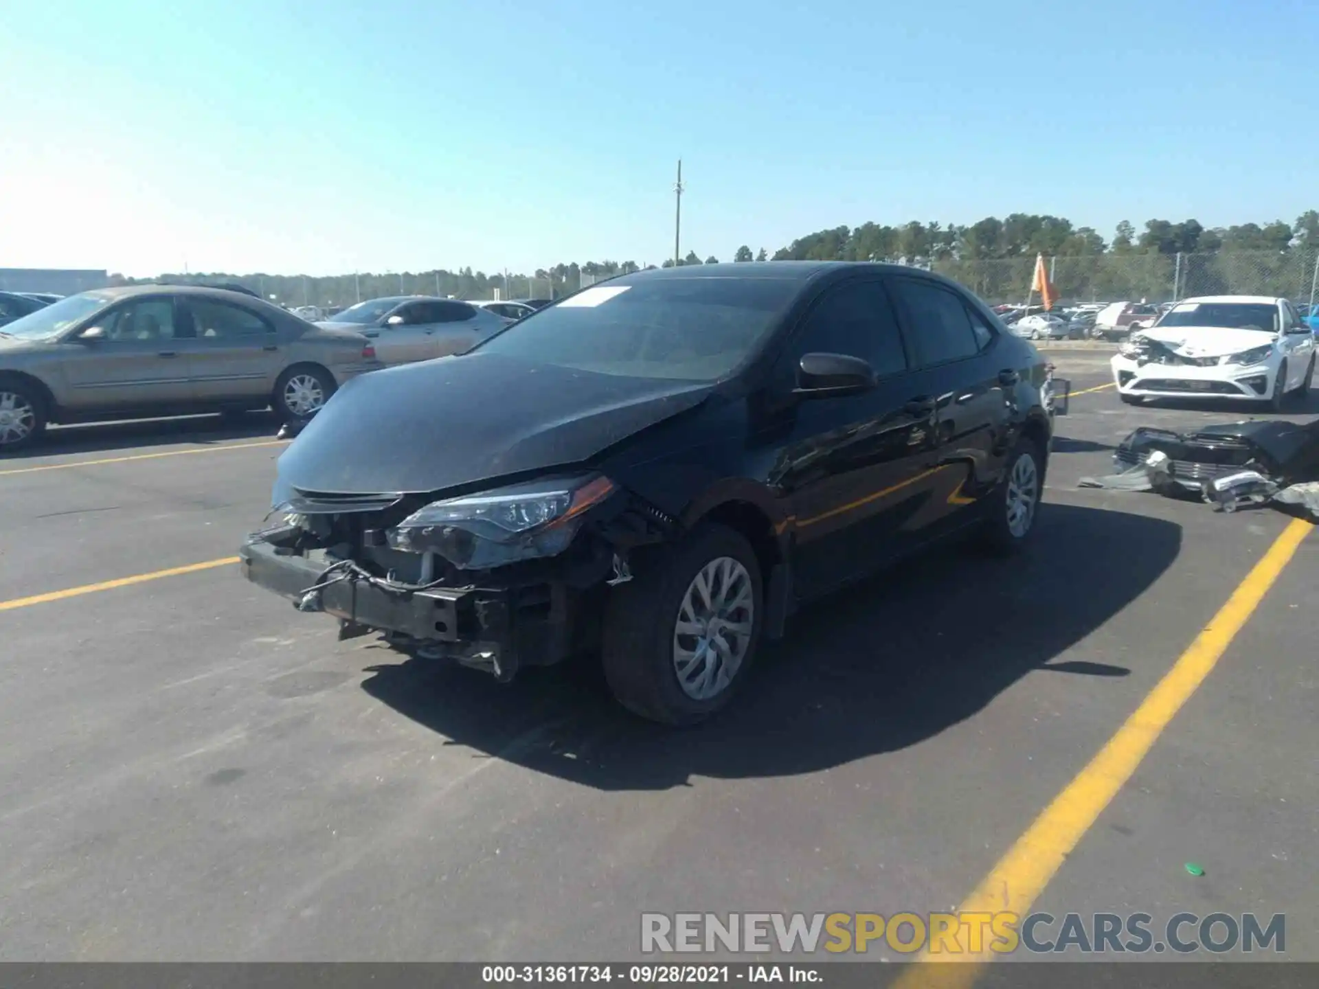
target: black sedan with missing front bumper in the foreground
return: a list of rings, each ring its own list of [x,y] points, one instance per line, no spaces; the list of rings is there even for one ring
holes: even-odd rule
[[[1025,543],[1046,365],[926,272],[640,272],[339,390],[244,575],[340,636],[512,678],[599,654],[623,704],[720,707],[797,607],[935,539]]]

